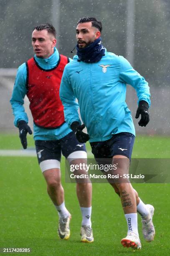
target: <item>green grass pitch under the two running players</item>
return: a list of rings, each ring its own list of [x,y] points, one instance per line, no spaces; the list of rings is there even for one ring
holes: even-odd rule
[[[169,145],[170,138],[140,136],[136,138],[133,156],[169,157]],[[28,146],[34,146],[32,136]],[[0,149],[20,148],[18,136],[0,136]],[[64,159],[61,169],[64,171]],[[76,198],[76,184],[65,183],[64,172],[62,184],[66,207],[72,214],[69,241],[61,241],[57,236],[58,215],[46,193],[46,182],[36,157],[0,157],[0,248],[31,248],[32,252],[28,255],[35,256],[169,255],[170,184],[133,185],[142,200],[155,207],[155,241],[144,241],[139,217],[142,250],[137,252],[120,244],[120,240],[126,236],[127,223],[119,197],[109,184],[93,184],[94,243],[80,243],[81,213]]]

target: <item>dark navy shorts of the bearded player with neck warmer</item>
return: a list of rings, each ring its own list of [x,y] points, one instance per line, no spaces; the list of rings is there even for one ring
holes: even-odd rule
[[[134,138],[132,133],[117,133],[107,141],[91,142],[91,152],[95,159],[107,159],[115,155],[122,155],[127,156],[130,160]]]

